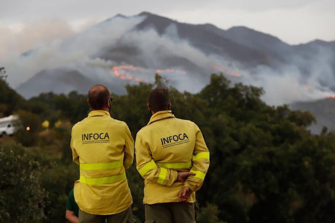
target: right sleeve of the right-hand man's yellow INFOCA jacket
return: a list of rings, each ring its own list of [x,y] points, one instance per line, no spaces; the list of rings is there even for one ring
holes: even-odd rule
[[[191,191],[197,191],[203,185],[207,170],[209,168],[209,150],[205,143],[203,134],[197,125],[195,129],[195,146],[192,156],[192,167],[190,172],[195,173],[194,176],[188,176],[184,185],[189,187]]]

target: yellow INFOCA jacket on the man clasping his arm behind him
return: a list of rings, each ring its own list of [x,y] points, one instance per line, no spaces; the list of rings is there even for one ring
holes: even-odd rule
[[[137,169],[144,180],[145,204],[179,202],[184,185],[195,201],[209,167],[209,151],[199,128],[177,119],[171,111],[155,113],[136,136]],[[178,171],[191,171],[185,183],[177,182]]]

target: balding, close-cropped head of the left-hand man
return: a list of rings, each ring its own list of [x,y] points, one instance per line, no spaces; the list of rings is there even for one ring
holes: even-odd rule
[[[88,91],[88,103],[94,110],[103,109],[110,97],[111,92],[105,85],[94,85]]]

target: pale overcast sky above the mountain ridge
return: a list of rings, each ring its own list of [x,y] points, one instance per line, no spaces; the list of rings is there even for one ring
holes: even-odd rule
[[[334,0],[0,0],[0,59],[62,40],[116,14],[142,11],[223,29],[243,25],[292,45],[335,41]]]

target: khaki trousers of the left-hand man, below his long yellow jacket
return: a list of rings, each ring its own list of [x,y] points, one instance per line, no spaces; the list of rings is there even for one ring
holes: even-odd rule
[[[104,223],[107,219],[108,223],[134,223],[136,220],[132,218],[131,206],[117,214],[98,215],[89,214],[79,209],[79,222],[80,223]]]

